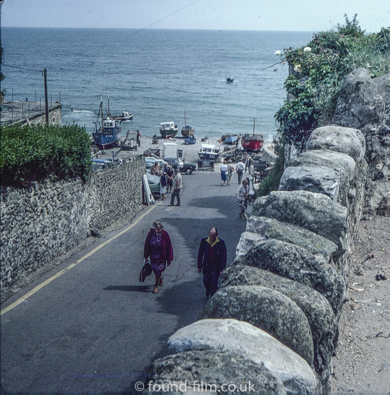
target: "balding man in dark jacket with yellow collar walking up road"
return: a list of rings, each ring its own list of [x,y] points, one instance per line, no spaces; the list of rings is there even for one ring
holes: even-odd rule
[[[218,278],[226,267],[226,245],[218,237],[216,227],[209,231],[209,237],[201,240],[198,251],[198,271],[203,271],[203,284],[206,287],[206,298],[211,297],[218,289]]]

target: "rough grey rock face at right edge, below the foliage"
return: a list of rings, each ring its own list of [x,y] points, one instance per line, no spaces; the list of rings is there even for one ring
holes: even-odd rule
[[[358,69],[345,79],[332,123],[360,129],[368,162],[365,214],[390,216],[390,75]]]

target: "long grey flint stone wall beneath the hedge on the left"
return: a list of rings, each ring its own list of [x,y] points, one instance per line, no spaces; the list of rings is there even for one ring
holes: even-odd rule
[[[90,179],[33,182],[27,189],[5,188],[1,205],[1,287],[135,213],[142,204],[145,161],[138,155],[92,171]]]

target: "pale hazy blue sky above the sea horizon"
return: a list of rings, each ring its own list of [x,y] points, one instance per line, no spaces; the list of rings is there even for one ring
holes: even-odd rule
[[[2,26],[327,31],[358,14],[390,26],[390,0],[4,0]]]

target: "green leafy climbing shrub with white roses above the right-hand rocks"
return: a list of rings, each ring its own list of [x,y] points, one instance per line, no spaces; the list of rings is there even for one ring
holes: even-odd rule
[[[355,69],[369,70],[371,77],[390,72],[390,28],[365,35],[356,19],[337,30],[318,32],[304,48],[288,48],[281,54],[294,72],[284,84],[288,95],[275,114],[278,135],[285,144],[302,150],[311,131],[331,121],[346,76]]]

